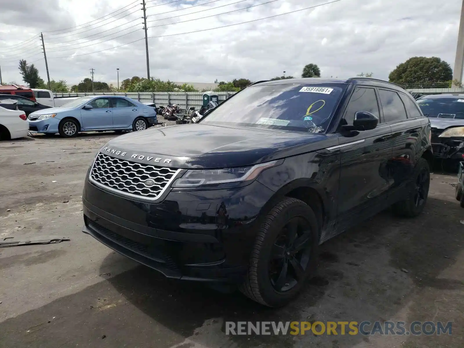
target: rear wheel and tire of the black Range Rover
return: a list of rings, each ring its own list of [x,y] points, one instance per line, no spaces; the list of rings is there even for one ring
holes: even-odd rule
[[[424,210],[429,194],[430,168],[425,158],[419,158],[412,175],[406,193],[406,199],[393,204],[393,212],[396,215],[413,218]]]

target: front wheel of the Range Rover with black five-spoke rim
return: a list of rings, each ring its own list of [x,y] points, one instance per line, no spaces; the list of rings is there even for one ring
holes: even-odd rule
[[[311,207],[285,198],[261,225],[240,290],[265,306],[284,306],[314,271],[318,244],[318,223]]]

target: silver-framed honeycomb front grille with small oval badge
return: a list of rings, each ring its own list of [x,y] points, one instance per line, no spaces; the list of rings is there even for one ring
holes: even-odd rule
[[[157,200],[178,169],[120,160],[99,153],[90,171],[90,180],[119,193]],[[150,180],[147,183],[147,180]]]

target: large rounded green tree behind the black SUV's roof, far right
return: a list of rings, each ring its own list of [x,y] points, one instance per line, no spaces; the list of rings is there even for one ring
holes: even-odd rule
[[[400,85],[417,84],[430,86],[432,84],[450,81],[453,71],[450,64],[438,57],[412,57],[398,64],[388,79]]]

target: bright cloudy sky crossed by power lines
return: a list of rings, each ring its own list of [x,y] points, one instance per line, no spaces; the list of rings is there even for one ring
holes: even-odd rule
[[[412,56],[440,57],[453,67],[462,0],[339,0],[289,13],[329,1],[147,1],[150,75],[183,82],[256,81],[283,71],[300,77],[303,66],[314,63],[323,77],[373,72],[387,79]],[[116,68],[120,81],[146,77],[140,2],[2,3],[3,82],[22,83],[19,59],[33,62],[46,80],[40,32],[51,79],[77,84],[90,77],[90,68],[96,81],[115,85]],[[275,17],[263,19],[270,16]],[[234,25],[242,22],[249,23]],[[210,28],[218,29],[204,31]]]

